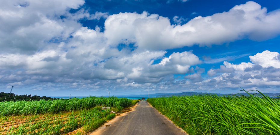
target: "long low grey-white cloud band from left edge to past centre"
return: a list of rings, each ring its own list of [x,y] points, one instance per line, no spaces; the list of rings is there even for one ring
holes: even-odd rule
[[[81,38],[80,35],[78,37]],[[76,36],[73,36],[72,42],[75,42],[77,47],[64,53],[57,49],[37,52],[34,55],[1,55],[0,69],[2,71],[23,69],[14,73],[2,73],[3,76],[0,78],[2,84],[12,81],[21,82],[23,85],[27,85],[27,82],[71,82],[73,84],[78,83],[77,81],[80,84],[81,79],[83,83],[93,83],[95,79],[101,82],[102,80],[119,80],[118,82],[122,83],[158,83],[166,76],[185,74],[190,66],[201,63],[191,51],[174,52],[168,58],[163,58],[165,51],[133,52],[126,55],[110,56],[111,58],[102,61],[103,59],[100,57],[104,57],[106,53],[103,52],[102,55],[99,51],[95,52],[91,48],[79,46],[75,38]],[[91,47],[94,47],[94,44]],[[71,56],[67,56],[69,54]],[[163,59],[160,63],[153,64],[153,61],[158,58]],[[120,85],[140,87],[140,85],[135,84]]]

